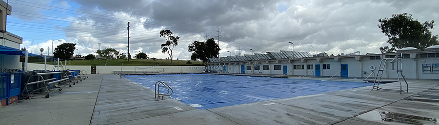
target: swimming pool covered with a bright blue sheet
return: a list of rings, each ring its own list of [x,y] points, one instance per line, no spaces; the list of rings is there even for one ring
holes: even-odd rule
[[[371,85],[364,82],[210,74],[147,75],[127,76],[127,78],[152,90],[157,81],[164,81],[174,90],[171,98],[198,109],[321,94]]]

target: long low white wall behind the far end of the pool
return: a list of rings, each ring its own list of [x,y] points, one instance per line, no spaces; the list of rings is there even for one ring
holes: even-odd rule
[[[151,73],[202,73],[204,66],[96,66],[97,74],[113,74],[122,71],[149,71]]]

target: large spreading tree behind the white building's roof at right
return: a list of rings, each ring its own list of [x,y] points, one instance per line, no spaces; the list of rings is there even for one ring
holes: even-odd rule
[[[392,15],[391,18],[384,18],[378,20],[381,24],[378,27],[389,40],[387,43],[392,47],[380,47],[381,52],[391,52],[395,48],[416,47],[423,50],[425,47],[438,45],[438,35],[432,35],[430,29],[433,29],[434,20],[420,23],[414,20],[412,15],[397,14]],[[393,48],[393,49],[392,49]],[[382,51],[384,50],[384,51]]]

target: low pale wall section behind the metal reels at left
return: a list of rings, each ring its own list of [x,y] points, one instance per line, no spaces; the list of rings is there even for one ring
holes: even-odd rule
[[[46,69],[52,70],[55,65],[48,64]],[[27,69],[28,70],[44,70],[44,64],[38,64],[38,63],[27,63]],[[58,67],[56,67],[58,69]],[[55,69],[55,70],[56,70]],[[88,74],[91,73],[91,66],[90,65],[67,65],[66,69],[72,69],[72,70],[84,70]],[[61,70],[61,67],[60,67]]]

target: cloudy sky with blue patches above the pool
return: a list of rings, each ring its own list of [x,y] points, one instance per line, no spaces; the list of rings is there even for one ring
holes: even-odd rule
[[[4,0],[6,1],[6,0]],[[23,37],[21,47],[47,55],[63,42],[75,54],[97,49],[166,58],[160,30],[180,36],[173,59],[190,59],[188,45],[215,37],[220,56],[293,50],[317,54],[379,53],[387,37],[380,18],[408,13],[420,22],[439,21],[439,0],[9,0],[7,31]],[[436,26],[432,30],[439,34]],[[292,44],[288,42],[291,41]],[[101,45],[99,45],[99,43]],[[227,51],[231,51],[228,53]],[[50,53],[50,52],[49,52]]]

